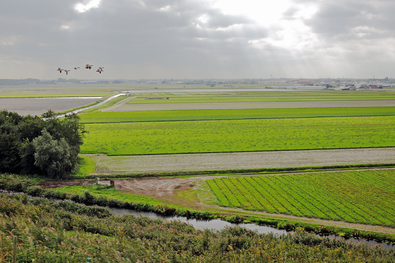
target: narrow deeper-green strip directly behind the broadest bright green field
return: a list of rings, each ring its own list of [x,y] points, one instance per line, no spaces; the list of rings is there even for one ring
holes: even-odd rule
[[[395,107],[271,108],[230,110],[147,110],[128,112],[90,112],[81,114],[81,123],[138,121],[196,121],[219,119],[275,119],[346,116],[395,115]]]

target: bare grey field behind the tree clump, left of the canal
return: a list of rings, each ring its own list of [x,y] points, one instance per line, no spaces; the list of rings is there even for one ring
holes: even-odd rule
[[[40,116],[49,109],[61,112],[97,100],[98,98],[0,98],[0,110],[16,112],[19,115]]]

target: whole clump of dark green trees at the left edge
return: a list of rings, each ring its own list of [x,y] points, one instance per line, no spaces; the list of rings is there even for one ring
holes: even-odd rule
[[[43,119],[0,111],[0,172],[64,178],[77,168],[84,125],[79,116],[63,120],[48,110]]]

